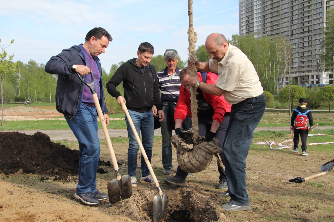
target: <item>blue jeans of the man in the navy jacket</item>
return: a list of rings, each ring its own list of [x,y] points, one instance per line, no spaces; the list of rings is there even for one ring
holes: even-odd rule
[[[66,122],[79,143],[79,170],[76,192],[86,193],[96,189],[96,171],[100,157],[100,140],[96,107],[80,104],[73,119],[66,115]]]

